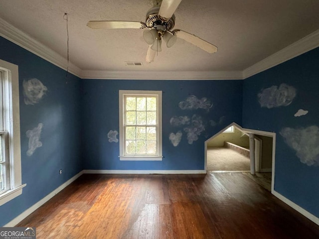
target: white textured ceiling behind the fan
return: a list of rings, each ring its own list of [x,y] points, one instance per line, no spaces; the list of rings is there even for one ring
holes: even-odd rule
[[[154,1],[154,0],[153,0]],[[177,39],[145,62],[143,29],[91,29],[89,20],[144,21],[152,0],[0,0],[0,18],[86,72],[242,72],[319,29],[319,0],[182,0],[174,29],[216,45]],[[126,66],[126,61],[143,66]],[[153,73],[154,74],[154,73]],[[172,74],[172,73],[171,73]],[[89,77],[89,76],[88,76]]]

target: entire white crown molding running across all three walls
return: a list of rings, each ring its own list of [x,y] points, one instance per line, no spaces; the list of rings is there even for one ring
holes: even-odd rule
[[[0,36],[63,70],[68,68],[70,73],[79,78],[110,80],[243,80],[319,47],[319,30],[317,30],[243,71],[92,71],[82,70],[71,62],[68,64],[64,57],[2,18],[0,18]]]

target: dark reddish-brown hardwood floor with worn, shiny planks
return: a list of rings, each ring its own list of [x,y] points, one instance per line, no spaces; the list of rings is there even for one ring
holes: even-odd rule
[[[318,239],[242,173],[85,174],[20,222],[37,239]]]

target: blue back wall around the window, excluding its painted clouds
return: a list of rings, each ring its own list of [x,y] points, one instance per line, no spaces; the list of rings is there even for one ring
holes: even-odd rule
[[[85,169],[102,170],[203,170],[204,141],[235,121],[242,119],[242,81],[148,81],[82,80],[83,82],[83,155]],[[162,161],[120,161],[119,143],[108,141],[110,130],[119,131],[119,90],[162,91]],[[207,98],[212,107],[182,110],[178,105],[188,96]],[[203,101],[204,102],[204,101]],[[173,126],[174,116],[196,115],[205,128],[198,140],[188,143],[187,125]],[[198,118],[200,117],[200,118]],[[222,118],[219,123],[220,118]],[[214,120],[216,125],[212,125]],[[183,135],[174,147],[168,136],[180,130]]]

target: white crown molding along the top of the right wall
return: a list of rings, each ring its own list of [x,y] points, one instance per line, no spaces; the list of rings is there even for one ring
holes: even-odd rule
[[[285,47],[284,49],[265,58],[264,60],[246,68],[245,70],[243,70],[243,79],[277,66],[317,47],[319,47],[319,30],[309,34],[308,36],[305,36],[299,41],[296,41],[295,43]]]

